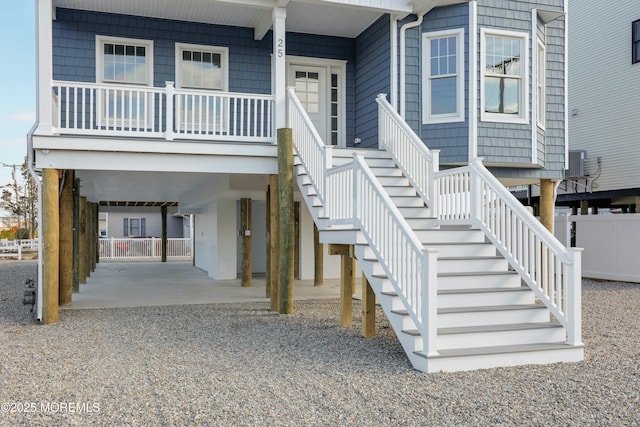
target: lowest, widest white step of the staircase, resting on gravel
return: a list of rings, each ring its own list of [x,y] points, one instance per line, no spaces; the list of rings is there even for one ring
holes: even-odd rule
[[[584,360],[583,346],[570,346],[563,341],[440,350],[438,353],[427,356],[416,351],[414,355],[421,361],[414,359],[414,362],[425,372],[454,372]]]

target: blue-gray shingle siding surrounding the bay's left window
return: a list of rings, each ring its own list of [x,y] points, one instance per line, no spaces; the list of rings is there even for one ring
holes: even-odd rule
[[[411,110],[414,106],[414,100],[419,101],[418,105],[422,105],[420,78],[418,78],[418,83],[415,87],[407,86],[407,121],[413,129],[417,129],[418,134],[427,147],[440,150],[440,161],[442,163],[461,163],[466,162],[469,158],[469,5],[458,4],[433,9],[425,15],[418,34],[414,35],[413,32],[407,32],[407,35],[411,35],[415,37],[417,41],[420,41],[420,48],[413,51],[407,50],[407,55],[412,53],[418,55],[417,58],[422,58],[422,34],[460,28],[464,29],[465,46],[463,52],[465,56],[465,121],[429,125],[422,124],[422,111]],[[420,75],[423,74],[421,67],[419,72]],[[408,74],[409,73],[407,73],[407,75]],[[407,78],[407,82],[409,82],[409,78]]]

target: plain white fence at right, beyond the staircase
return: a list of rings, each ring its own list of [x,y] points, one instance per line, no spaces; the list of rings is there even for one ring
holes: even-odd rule
[[[640,214],[556,217],[555,234],[567,245],[572,223],[584,277],[640,282]]]

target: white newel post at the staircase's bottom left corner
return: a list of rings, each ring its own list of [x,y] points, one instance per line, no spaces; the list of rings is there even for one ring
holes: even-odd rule
[[[422,251],[422,352],[427,356],[438,354],[438,250]]]

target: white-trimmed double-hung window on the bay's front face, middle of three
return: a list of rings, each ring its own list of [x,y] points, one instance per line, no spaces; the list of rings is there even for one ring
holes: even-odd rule
[[[481,117],[527,123],[526,34],[482,29]]]

